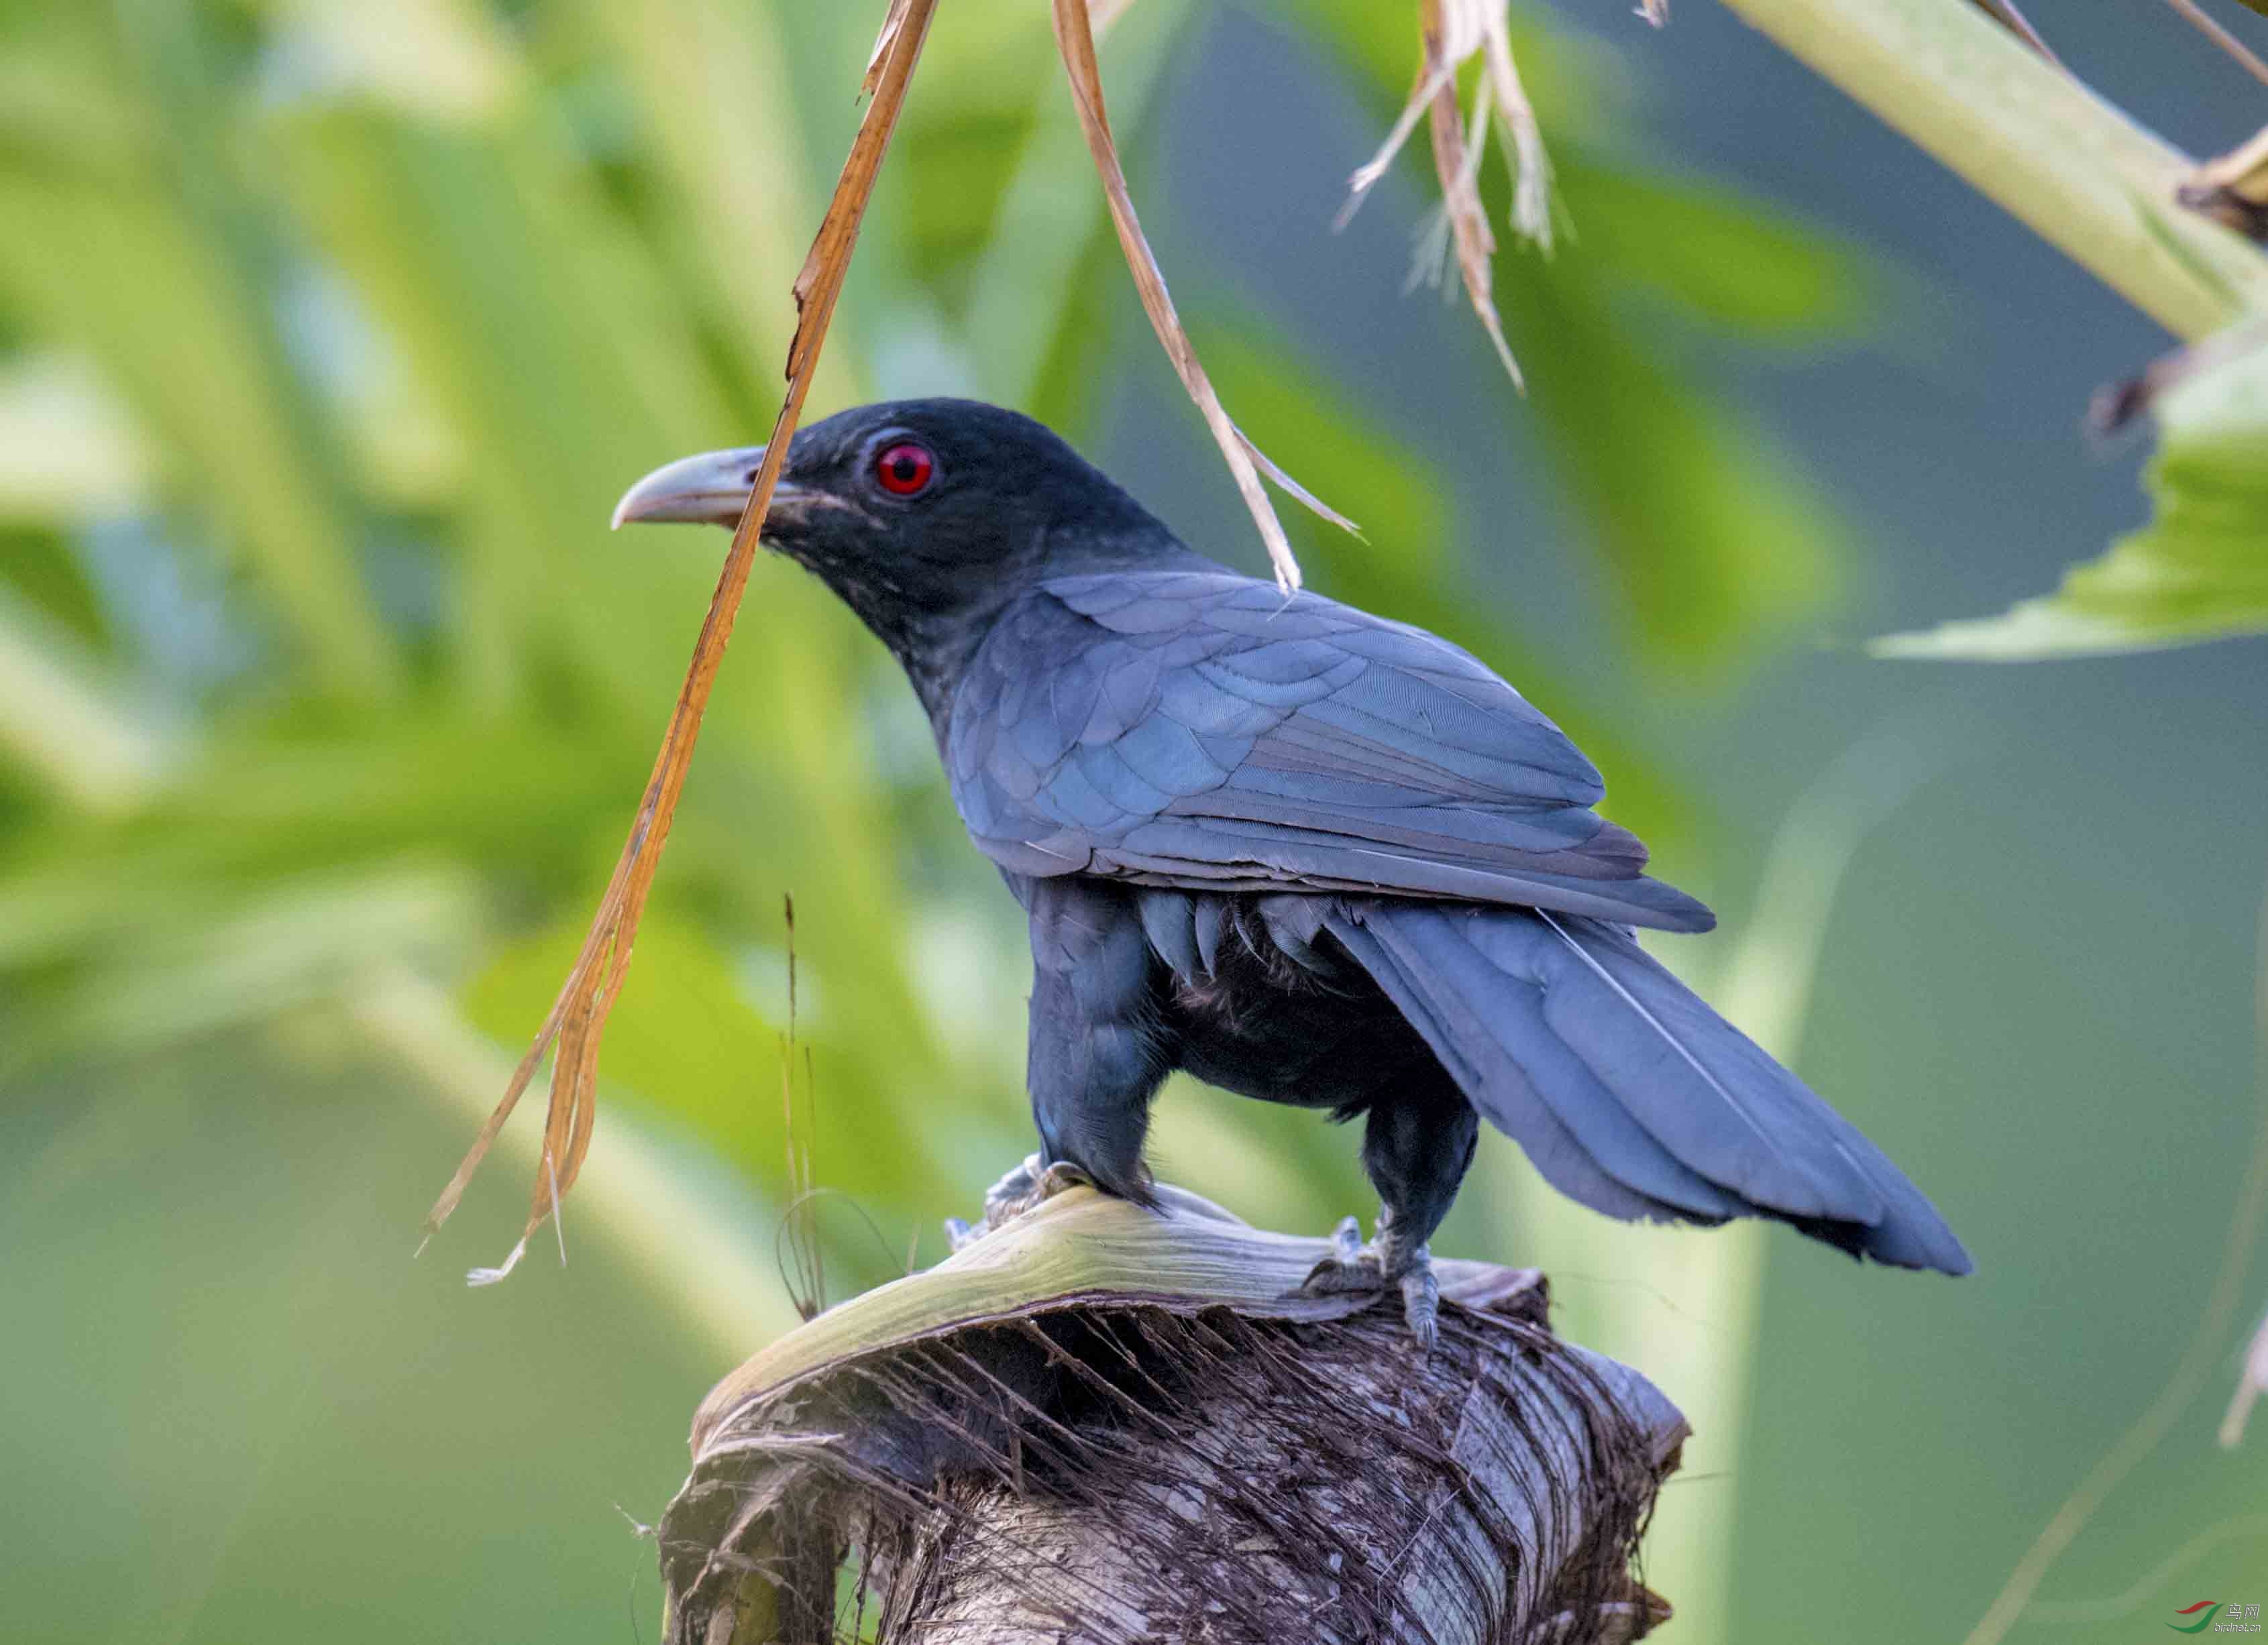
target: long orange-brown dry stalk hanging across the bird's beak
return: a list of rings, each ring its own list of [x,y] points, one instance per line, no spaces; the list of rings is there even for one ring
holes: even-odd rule
[[[481,1135],[474,1137],[465,1160],[456,1167],[449,1187],[442,1190],[426,1214],[424,1233],[431,1239],[433,1230],[456,1210],[481,1158],[497,1140],[528,1081],[535,1079],[535,1067],[542,1063],[544,1051],[556,1040],[558,1056],[551,1067],[551,1106],[544,1115],[544,1149],[535,1167],[528,1224],[501,1267],[476,1269],[472,1273],[476,1285],[501,1280],[526,1255],[528,1237],[542,1226],[544,1217],[556,1214],[560,1196],[574,1187],[583,1156],[590,1151],[592,1119],[596,1117],[599,1038],[631,972],[631,943],[637,938],[637,920],[644,913],[646,893],[662,859],[662,845],[669,841],[669,822],[676,816],[685,770],[692,764],[694,741],[701,734],[701,714],[708,709],[717,666],[723,662],[726,641],[733,637],[733,619],[739,614],[739,598],[748,587],[748,569],[755,562],[764,512],[771,508],[771,492],[780,483],[780,467],[787,462],[787,446],[796,433],[796,419],[803,415],[803,397],[812,387],[819,349],[826,342],[828,322],[835,317],[835,299],[841,295],[860,222],[866,215],[866,199],[873,195],[875,174],[882,170],[882,156],[898,125],[898,111],[905,106],[905,88],[914,75],[914,63],[921,59],[921,45],[930,34],[934,11],[937,0],[891,0],[882,34],[875,41],[873,61],[866,68],[864,91],[873,102],[866,106],[866,118],[850,143],[850,156],[844,161],[841,179],[835,184],[835,197],[828,202],[828,215],[819,224],[812,252],[796,276],[796,338],[787,351],[787,401],[780,406],[780,417],[771,428],[771,444],[764,449],[764,464],[755,476],[755,489],[748,494],[748,508],[733,532],[733,548],[726,555],[723,573],[717,578],[717,594],[710,598],[701,637],[694,641],[692,666],[678,691],[678,705],[669,716],[669,734],[662,739],[662,752],[653,761],[653,775],[646,779],[646,795],[637,807],[637,820],[631,825],[631,838],[624,843],[621,856],[615,863],[615,877],[599,900],[599,913],[592,920],[590,936],[583,938],[583,952],[576,956],[574,970],[567,972],[567,981],[551,1004],[551,1015],[544,1017],[544,1026],[535,1033],[528,1054],[513,1069],[503,1101],[497,1103],[488,1124],[481,1126]]]

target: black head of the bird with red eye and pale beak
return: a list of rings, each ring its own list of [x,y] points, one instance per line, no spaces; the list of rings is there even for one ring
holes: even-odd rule
[[[655,469],[615,508],[615,526],[737,526],[762,460],[764,446],[744,446]],[[1175,551],[1052,431],[964,399],[860,406],[801,431],[764,544],[819,573],[907,668],[1036,576]]]

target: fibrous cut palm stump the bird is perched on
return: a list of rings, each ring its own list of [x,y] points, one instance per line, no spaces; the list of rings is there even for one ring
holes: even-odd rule
[[[660,1527],[671,1645],[1601,1645],[1685,1418],[1542,1276],[1302,1296],[1320,1239],[1161,1190],[996,1201],[744,1364]]]

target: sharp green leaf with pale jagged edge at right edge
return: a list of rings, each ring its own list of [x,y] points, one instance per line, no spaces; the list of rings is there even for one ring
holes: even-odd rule
[[[2209,347],[2209,344],[2207,344]],[[2157,517],[2048,596],[1873,641],[1876,657],[2028,662],[2268,632],[2268,349],[2252,347],[2157,401],[2143,476]]]

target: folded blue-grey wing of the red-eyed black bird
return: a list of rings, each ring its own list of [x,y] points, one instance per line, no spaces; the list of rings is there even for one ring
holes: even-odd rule
[[[1041,582],[946,734],[975,843],[1016,875],[1388,890],[1706,929],[1590,807],[1599,773],[1456,646],[1232,571]]]

